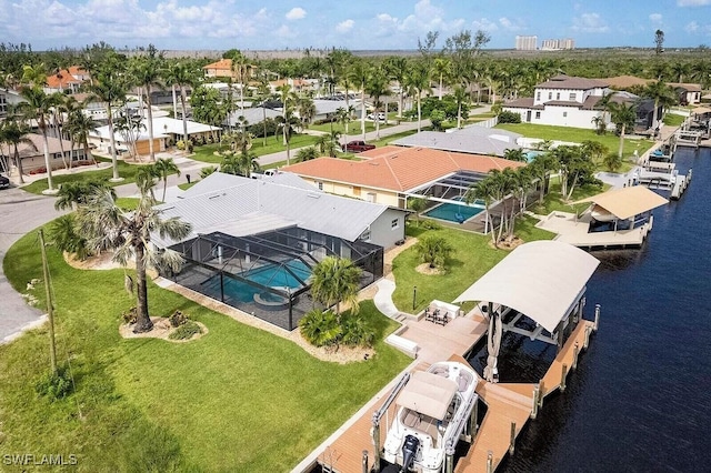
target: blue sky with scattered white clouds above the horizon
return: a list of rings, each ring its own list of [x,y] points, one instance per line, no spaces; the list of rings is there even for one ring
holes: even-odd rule
[[[711,46],[711,0],[0,0],[0,41],[34,50],[156,44],[159,49],[414,49],[463,29],[510,49],[517,34],[579,48]],[[441,44],[440,44],[441,46]]]

